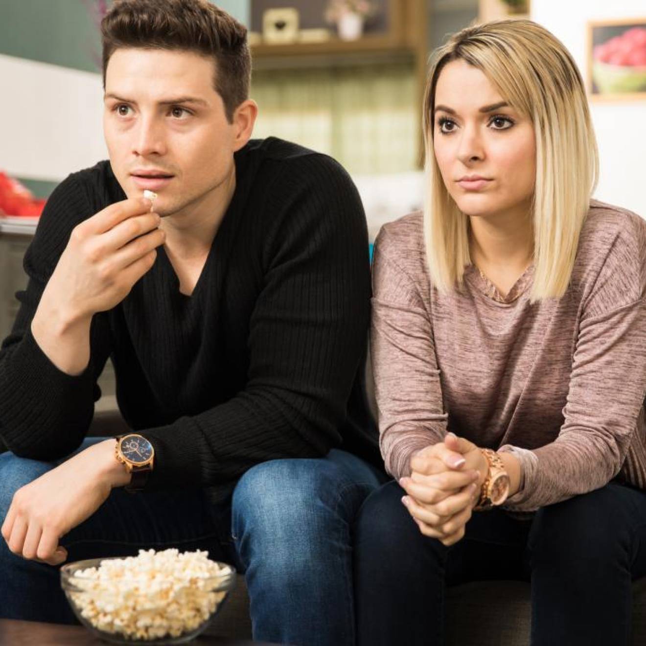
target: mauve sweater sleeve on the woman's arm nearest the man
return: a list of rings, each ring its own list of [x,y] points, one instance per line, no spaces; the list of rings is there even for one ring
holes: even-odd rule
[[[371,357],[381,452],[386,470],[399,479],[410,475],[413,453],[443,441],[448,415],[431,319],[394,255],[382,229],[373,264]]]

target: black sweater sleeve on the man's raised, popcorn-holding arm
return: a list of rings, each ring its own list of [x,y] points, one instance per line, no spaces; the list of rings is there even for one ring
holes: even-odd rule
[[[47,201],[25,255],[28,284],[16,295],[16,322],[0,349],[0,437],[20,457],[50,461],[76,450],[100,397],[96,378],[109,354],[100,322],[92,321],[90,363],[74,377],[52,364],[31,333],[43,290],[72,228],[90,215],[87,194],[70,176]]]

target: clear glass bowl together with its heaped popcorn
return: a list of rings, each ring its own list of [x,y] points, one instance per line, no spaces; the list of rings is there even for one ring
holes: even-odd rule
[[[139,550],[61,567],[78,620],[112,643],[178,644],[203,632],[235,584],[235,569],[208,552]]]

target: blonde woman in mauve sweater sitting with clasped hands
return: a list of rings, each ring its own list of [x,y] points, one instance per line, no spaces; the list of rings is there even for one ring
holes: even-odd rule
[[[395,481],[357,525],[359,642],[439,645],[445,584],[530,579],[532,645],[626,644],[646,575],[646,222],[590,201],[583,83],[535,23],[455,34],[424,131],[424,213],[375,247]]]

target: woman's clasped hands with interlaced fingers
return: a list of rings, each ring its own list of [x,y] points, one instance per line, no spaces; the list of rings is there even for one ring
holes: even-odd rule
[[[486,458],[475,444],[447,433],[444,442],[415,453],[411,469],[400,481],[408,494],[402,503],[424,536],[457,543],[488,472]]]

